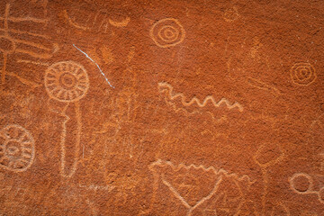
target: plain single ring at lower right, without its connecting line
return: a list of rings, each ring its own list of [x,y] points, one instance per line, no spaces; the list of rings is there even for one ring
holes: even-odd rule
[[[310,175],[300,173],[294,174],[289,182],[296,193],[311,193],[313,181]]]

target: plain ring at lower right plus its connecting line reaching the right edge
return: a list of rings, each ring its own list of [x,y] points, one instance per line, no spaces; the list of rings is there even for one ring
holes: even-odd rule
[[[316,194],[318,200],[324,204],[324,187],[319,191],[314,190],[313,178],[305,173],[296,173],[288,179],[294,193],[299,194]]]

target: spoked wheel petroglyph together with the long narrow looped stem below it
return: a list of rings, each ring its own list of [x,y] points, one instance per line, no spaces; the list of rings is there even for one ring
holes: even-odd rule
[[[59,115],[65,118],[62,123],[62,135],[60,140],[61,148],[61,163],[60,163],[60,174],[64,177],[71,177],[76,172],[77,160],[80,150],[80,139],[81,139],[81,112],[79,100],[82,99],[88,88],[89,79],[85,70],[85,67],[74,62],[74,61],[60,61],[51,65],[45,72],[45,88],[49,94],[49,100],[57,100],[59,102],[66,103],[66,106]],[[66,136],[67,136],[67,121],[69,117],[66,114],[67,106],[69,103],[75,104],[76,112],[76,145],[75,145],[75,156],[74,162],[70,170],[66,169]],[[57,112],[53,110],[53,112]]]

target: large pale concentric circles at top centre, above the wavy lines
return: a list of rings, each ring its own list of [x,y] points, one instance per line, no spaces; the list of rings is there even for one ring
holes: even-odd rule
[[[149,35],[158,47],[167,48],[181,43],[185,37],[184,27],[174,18],[166,18],[154,23]]]

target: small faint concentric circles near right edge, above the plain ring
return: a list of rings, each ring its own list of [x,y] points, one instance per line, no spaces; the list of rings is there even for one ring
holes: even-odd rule
[[[291,68],[293,83],[296,85],[311,85],[316,79],[315,68],[310,63],[297,63]]]

